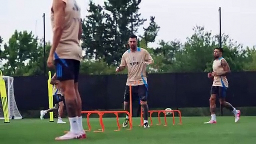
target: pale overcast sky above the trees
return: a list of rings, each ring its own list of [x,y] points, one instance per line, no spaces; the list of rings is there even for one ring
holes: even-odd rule
[[[93,0],[103,4],[104,0]],[[32,31],[43,38],[43,13],[46,13],[46,41],[51,41],[50,7],[52,0],[1,0],[0,35],[7,43],[15,29]],[[89,0],[77,0],[82,18],[88,15]],[[256,1],[255,0],[142,0],[140,13],[143,18],[156,16],[161,27],[156,38],[185,41],[193,34],[193,26],[205,26],[213,34],[219,33],[219,13],[222,9],[222,32],[230,35],[244,46],[256,45]],[[144,27],[149,22],[145,22]],[[143,28],[137,33],[143,34]]]

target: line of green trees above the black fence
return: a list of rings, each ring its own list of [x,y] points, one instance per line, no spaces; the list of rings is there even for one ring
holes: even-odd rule
[[[121,61],[122,54],[128,49],[128,37],[136,34],[144,22],[144,33],[139,35],[138,46],[149,51],[154,64],[148,66],[149,73],[169,72],[210,72],[212,71],[213,49],[219,47],[219,35],[205,31],[203,26],[195,26],[194,34],[184,43],[178,40],[160,40],[154,43],[160,26],[150,16],[141,18],[139,5],[141,0],[106,0],[103,6],[90,1],[88,16],[82,21],[82,49],[85,55],[81,61],[83,74],[114,74]],[[29,76],[44,74],[43,39],[32,32],[16,31],[3,44],[0,36],[0,62],[4,75]],[[46,59],[51,43],[46,43]],[[255,71],[255,47],[244,48],[233,41],[229,35],[222,34],[224,57],[231,71]],[[45,60],[46,60],[45,59]],[[46,68],[49,71],[48,68]],[[123,73],[127,73],[124,71]]]

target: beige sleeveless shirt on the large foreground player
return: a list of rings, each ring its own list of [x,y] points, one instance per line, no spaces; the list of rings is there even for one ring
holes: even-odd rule
[[[56,53],[60,59],[81,60],[82,48],[78,40],[79,25],[81,22],[80,7],[75,0],[62,0],[66,3],[65,23],[60,43],[56,48]],[[54,31],[54,12],[51,9],[51,25]]]

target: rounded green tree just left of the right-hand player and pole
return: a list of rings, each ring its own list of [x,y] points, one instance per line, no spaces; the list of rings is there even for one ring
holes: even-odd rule
[[[205,32],[204,27],[193,28],[194,34],[187,38],[184,46],[175,54],[175,72],[203,72],[206,64],[212,62],[213,49],[217,47],[216,37]]]

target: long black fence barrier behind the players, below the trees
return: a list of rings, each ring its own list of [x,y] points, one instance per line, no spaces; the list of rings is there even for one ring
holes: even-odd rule
[[[80,75],[82,109],[122,109],[126,79],[127,75]],[[150,108],[209,107],[212,79],[207,73],[149,74],[147,80]],[[232,72],[228,81],[227,101],[235,107],[256,106],[256,72]],[[14,77],[13,85],[19,110],[49,107],[47,76]]]

